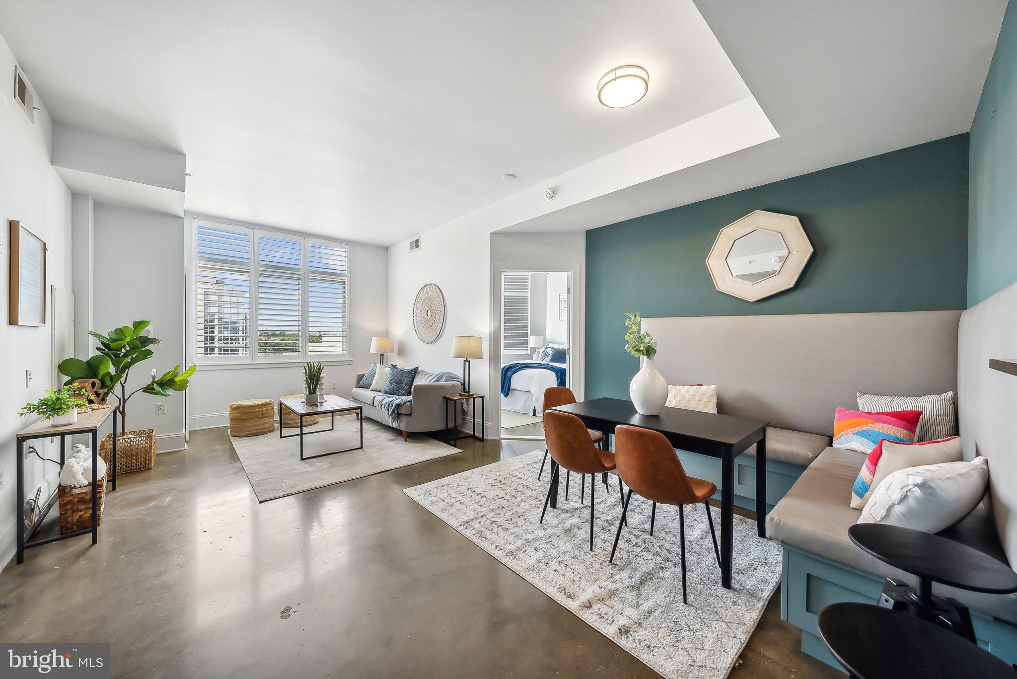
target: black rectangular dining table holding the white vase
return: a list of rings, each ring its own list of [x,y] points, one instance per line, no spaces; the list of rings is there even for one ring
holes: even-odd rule
[[[720,571],[721,584],[731,588],[734,554],[734,458],[756,446],[756,525],[766,537],[766,428],[762,419],[736,417],[715,412],[664,407],[658,415],[644,415],[632,401],[595,398],[549,408],[576,415],[587,429],[610,438],[618,425],[641,427],[663,434],[671,445],[701,455],[719,458],[720,483]],[[557,475],[552,475],[550,506],[557,506]]]

